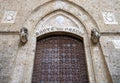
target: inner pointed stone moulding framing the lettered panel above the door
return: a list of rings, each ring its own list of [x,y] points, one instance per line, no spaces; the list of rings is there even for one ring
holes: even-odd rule
[[[37,33],[37,32],[40,32],[39,28],[44,27],[43,25],[45,24],[45,21],[48,21],[49,19],[52,19],[53,17],[59,16],[59,15],[68,18],[76,25],[76,29],[80,32],[80,34],[78,34],[80,37],[83,38],[83,36],[86,35],[87,32],[86,32],[86,28],[84,28],[85,27],[84,24],[79,19],[77,19],[75,16],[73,16],[72,14],[70,14],[69,12],[66,12],[64,10],[57,10],[57,11],[51,12],[51,13],[47,14],[46,16],[44,16],[44,18],[39,20],[39,22],[37,23],[37,25],[34,29],[35,32],[33,32],[33,33],[36,33],[37,37],[41,36],[41,34]],[[58,32],[59,30],[56,30],[56,31]],[[55,31],[53,31],[53,32],[55,32]],[[73,33],[73,32],[69,32],[69,31],[65,31],[65,32]],[[43,33],[43,34],[46,34],[46,33]],[[76,34],[76,33],[73,33],[73,34]]]

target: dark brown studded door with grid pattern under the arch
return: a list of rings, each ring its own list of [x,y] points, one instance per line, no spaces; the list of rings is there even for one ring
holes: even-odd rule
[[[88,83],[83,42],[68,36],[38,40],[32,83]]]

